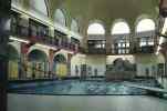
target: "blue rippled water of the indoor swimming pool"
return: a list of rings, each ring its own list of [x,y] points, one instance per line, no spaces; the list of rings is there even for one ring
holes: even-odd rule
[[[145,95],[146,90],[126,84],[159,87],[155,80],[112,81],[104,80],[55,80],[42,82],[9,83],[10,93],[50,95]]]

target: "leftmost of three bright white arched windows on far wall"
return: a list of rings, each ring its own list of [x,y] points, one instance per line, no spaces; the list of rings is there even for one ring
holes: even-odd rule
[[[101,23],[92,23],[88,26],[87,34],[105,34],[104,27]]]

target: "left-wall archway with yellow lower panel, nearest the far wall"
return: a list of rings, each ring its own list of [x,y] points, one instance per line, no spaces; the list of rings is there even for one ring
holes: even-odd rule
[[[56,54],[53,59],[53,73],[59,78],[67,75],[67,61],[63,54]]]

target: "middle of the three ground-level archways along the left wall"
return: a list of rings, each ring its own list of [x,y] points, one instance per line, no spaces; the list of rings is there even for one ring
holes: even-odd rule
[[[27,78],[43,79],[48,77],[49,60],[46,53],[41,50],[32,50],[28,54]]]

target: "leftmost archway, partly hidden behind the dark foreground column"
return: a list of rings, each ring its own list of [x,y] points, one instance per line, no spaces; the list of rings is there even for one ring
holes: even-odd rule
[[[8,46],[8,79],[15,80],[19,79],[19,53],[18,50],[11,44]]]

